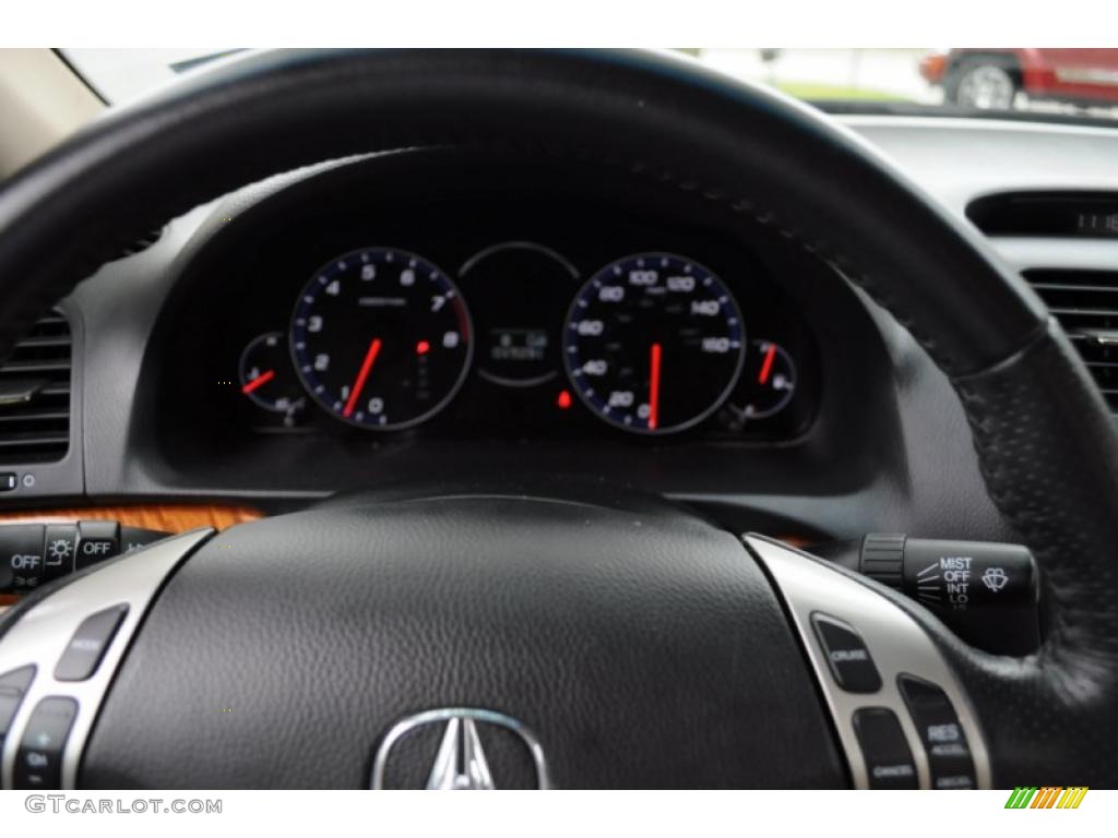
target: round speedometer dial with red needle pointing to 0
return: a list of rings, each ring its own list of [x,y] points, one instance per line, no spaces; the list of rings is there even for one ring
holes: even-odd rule
[[[575,391],[606,421],[671,434],[713,413],[746,356],[733,295],[711,270],[647,253],[595,274],[571,304],[563,362]]]

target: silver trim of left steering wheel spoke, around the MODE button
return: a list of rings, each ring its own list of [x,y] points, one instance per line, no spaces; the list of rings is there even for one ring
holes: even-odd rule
[[[192,530],[131,553],[47,597],[9,629],[0,642],[0,673],[28,664],[34,664],[37,672],[4,739],[0,754],[0,788],[13,787],[16,754],[23,730],[39,701],[47,696],[68,696],[78,703],[77,717],[63,753],[63,788],[77,788],[77,770],[85,742],[136,627],[167,577],[212,533],[209,527]],[[56,680],[55,665],[80,622],[102,609],[121,603],[129,606],[129,612],[94,675],[82,682]]]

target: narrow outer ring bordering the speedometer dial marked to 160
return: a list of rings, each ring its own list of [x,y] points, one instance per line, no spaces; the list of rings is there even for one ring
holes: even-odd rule
[[[713,280],[713,283],[719,288],[721,288],[721,291],[726,294],[728,304],[731,311],[733,312],[733,316],[737,318],[738,327],[740,328],[741,332],[739,337],[740,346],[738,349],[738,359],[733,368],[733,372],[729,377],[726,387],[722,389],[722,392],[719,393],[718,398],[714,399],[714,401],[711,402],[711,404],[698,416],[689,419],[685,422],[673,425],[669,428],[648,428],[648,427],[639,427],[636,425],[626,425],[624,421],[619,421],[608,416],[607,413],[604,413],[600,410],[600,408],[597,404],[595,404],[589,397],[586,396],[586,393],[582,391],[582,388],[579,385],[570,363],[571,354],[574,353],[568,351],[570,341],[574,340],[571,336],[570,324],[575,315],[575,311],[578,307],[578,304],[582,299],[584,295],[587,293],[587,289],[590,288],[596,282],[598,282],[606,274],[606,272],[609,272],[614,267],[617,267],[623,263],[627,261],[634,261],[637,259],[665,259],[665,258],[675,259],[684,265],[690,265],[693,269],[703,272],[705,276],[710,277],[710,279]],[[741,316],[741,306],[738,305],[738,299],[733,295],[733,292],[730,291],[730,286],[727,285],[726,280],[722,279],[721,276],[711,270],[709,267],[707,267],[703,263],[697,259],[692,259],[689,256],[683,256],[682,254],[675,254],[667,250],[641,250],[633,254],[627,254],[625,256],[620,256],[616,259],[606,263],[600,268],[595,270],[593,274],[590,274],[589,278],[587,278],[587,280],[579,286],[578,291],[575,293],[575,297],[574,299],[571,299],[570,305],[567,308],[567,316],[563,318],[562,328],[563,328],[562,344],[560,347],[560,352],[562,354],[562,365],[563,370],[567,373],[567,380],[570,382],[571,389],[578,396],[579,401],[581,401],[582,404],[585,404],[586,408],[594,416],[596,416],[598,419],[606,422],[607,425],[624,430],[628,434],[635,434],[643,437],[674,436],[676,434],[681,434],[683,431],[690,430],[701,425],[711,416],[713,416],[719,410],[719,408],[721,408],[727,402],[730,396],[733,394],[733,391],[738,385],[738,381],[741,379],[741,371],[745,369],[746,365],[746,351],[749,346],[749,334],[746,330],[745,318]]]

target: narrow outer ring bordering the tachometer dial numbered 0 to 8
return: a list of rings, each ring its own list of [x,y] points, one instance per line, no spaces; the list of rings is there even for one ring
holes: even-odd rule
[[[295,321],[299,318],[301,307],[303,305],[310,305],[310,303],[305,301],[305,297],[307,296],[307,293],[311,288],[320,284],[319,277],[322,276],[322,272],[330,268],[331,266],[337,265],[338,263],[345,261],[349,258],[373,251],[389,253],[392,254],[394,257],[404,257],[405,259],[415,259],[418,263],[434,269],[438,275],[438,277],[442,279],[442,282],[446,283],[454,291],[455,299],[457,299],[458,305],[462,306],[462,316],[465,321],[464,341],[466,344],[466,354],[462,361],[462,369],[458,371],[458,377],[457,379],[455,379],[454,384],[451,387],[451,389],[447,390],[446,396],[444,396],[438,402],[436,402],[433,407],[430,407],[427,411],[420,413],[419,416],[411,417],[405,421],[389,422],[385,425],[370,425],[368,422],[362,422],[358,419],[352,419],[342,416],[337,410],[334,410],[332,402],[325,402],[324,400],[320,399],[318,393],[314,392],[314,389],[310,387],[309,382],[304,379],[303,368],[295,350],[295,342],[296,342]],[[466,298],[462,295],[462,289],[458,287],[458,284],[454,282],[452,276],[446,270],[444,270],[436,263],[428,259],[426,256],[417,254],[413,250],[406,250],[401,247],[392,247],[386,245],[358,247],[353,248],[352,250],[347,250],[343,254],[339,254],[338,256],[334,256],[333,258],[324,261],[322,265],[315,268],[315,270],[311,273],[311,277],[302,286],[300,286],[299,295],[295,297],[295,304],[294,307],[292,308],[291,321],[287,326],[287,349],[291,353],[292,364],[295,368],[295,375],[299,378],[299,382],[303,385],[303,389],[306,391],[307,396],[310,396],[311,400],[315,404],[318,404],[324,413],[326,413],[330,418],[335,419],[339,422],[343,422],[354,428],[360,428],[361,430],[375,431],[379,434],[390,434],[394,431],[407,430],[408,428],[414,428],[417,425],[423,425],[424,422],[433,419],[454,400],[455,396],[458,394],[458,392],[462,390],[462,385],[466,381],[466,377],[470,374],[470,368],[474,359],[474,322],[470,314],[470,305],[466,303]]]

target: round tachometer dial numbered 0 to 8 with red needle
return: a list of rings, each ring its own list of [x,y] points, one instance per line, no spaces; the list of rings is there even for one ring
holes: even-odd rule
[[[326,411],[366,428],[406,428],[457,392],[471,355],[457,287],[426,259],[367,248],[333,259],[300,294],[295,370]]]

